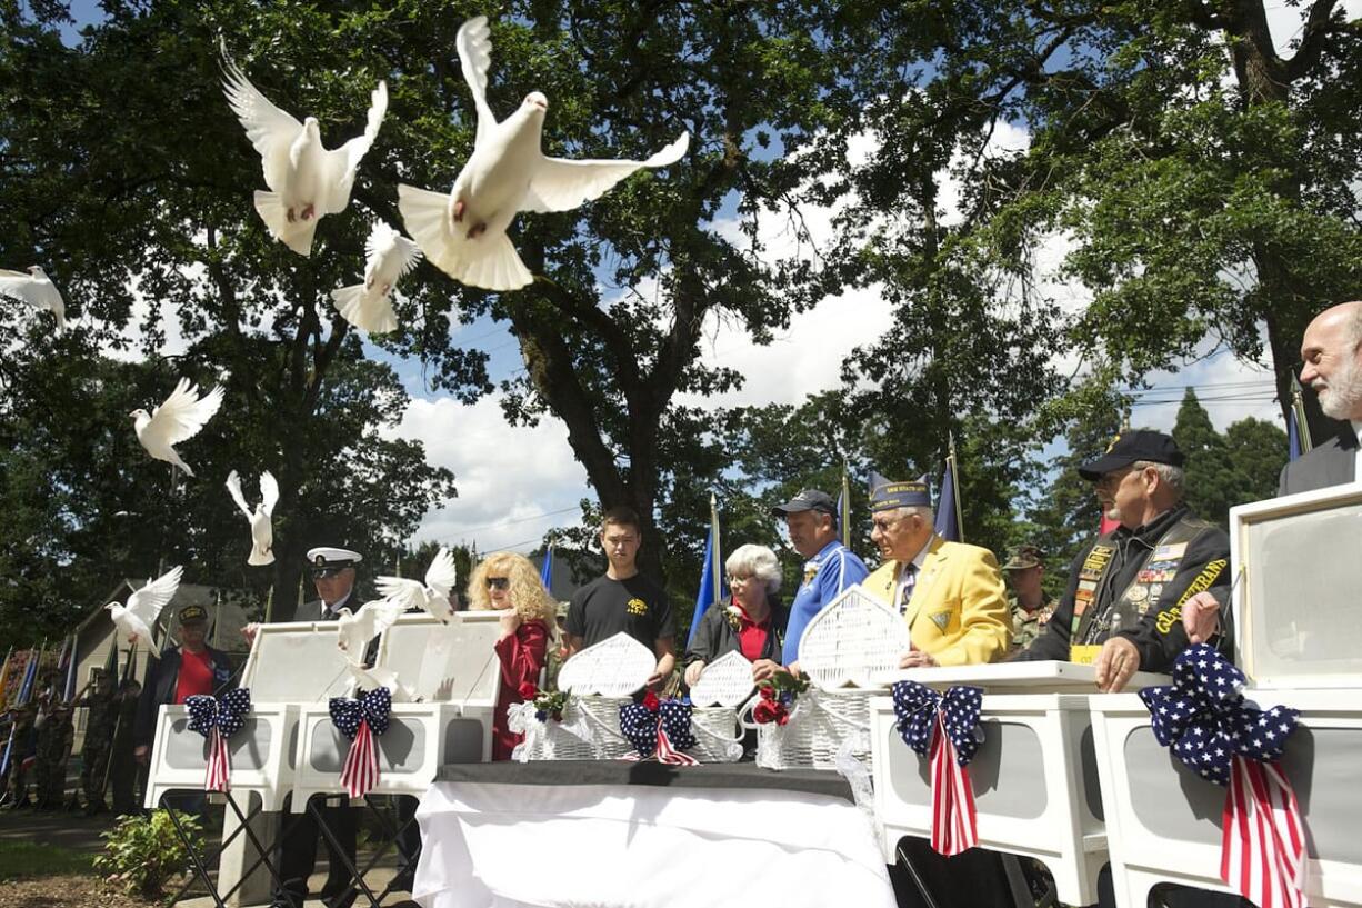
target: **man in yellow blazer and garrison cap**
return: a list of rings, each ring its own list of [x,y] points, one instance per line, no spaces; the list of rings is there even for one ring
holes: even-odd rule
[[[884,563],[864,586],[908,623],[913,650],[900,667],[974,665],[1005,657],[1012,620],[993,552],[948,543],[933,532],[926,477],[874,479],[870,539]]]

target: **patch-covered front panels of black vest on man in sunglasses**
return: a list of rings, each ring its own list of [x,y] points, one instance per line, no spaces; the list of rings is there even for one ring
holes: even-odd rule
[[[1209,524],[1190,517],[1170,526],[1144,556],[1140,570],[1126,582],[1125,589],[1110,599],[1110,605],[1105,608],[1098,608],[1098,604],[1109,599],[1118,543],[1110,533],[1098,539],[1079,569],[1073,623],[1069,629],[1069,661],[1091,664],[1107,637],[1135,629],[1158,604],[1163,588],[1177,577],[1188,545],[1208,529]]]

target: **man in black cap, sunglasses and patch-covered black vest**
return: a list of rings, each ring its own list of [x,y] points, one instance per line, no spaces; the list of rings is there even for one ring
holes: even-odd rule
[[[1229,599],[1230,537],[1182,502],[1184,459],[1163,432],[1135,429],[1079,468],[1118,526],[1079,552],[1046,633],[1013,659],[1091,663],[1107,693],[1169,671],[1188,645],[1182,604]]]

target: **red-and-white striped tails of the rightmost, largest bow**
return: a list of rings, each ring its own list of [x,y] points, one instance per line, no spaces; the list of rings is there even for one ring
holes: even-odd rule
[[[1220,825],[1220,879],[1258,908],[1303,908],[1305,825],[1278,763],[1234,758]]]

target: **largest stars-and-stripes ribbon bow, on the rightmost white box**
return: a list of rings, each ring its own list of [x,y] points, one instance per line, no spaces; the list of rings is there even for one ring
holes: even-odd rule
[[[1205,644],[1145,687],[1154,736],[1207,781],[1226,785],[1220,879],[1260,908],[1305,905],[1305,822],[1278,761],[1301,714],[1244,701],[1244,672]]]

